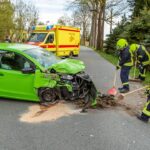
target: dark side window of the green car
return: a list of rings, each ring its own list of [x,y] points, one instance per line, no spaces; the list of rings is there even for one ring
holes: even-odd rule
[[[14,52],[7,52],[1,55],[0,67],[2,69],[16,71],[22,71],[22,69],[26,68],[35,69],[34,64],[30,60]]]

